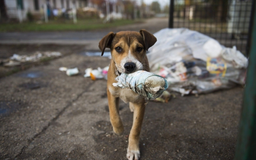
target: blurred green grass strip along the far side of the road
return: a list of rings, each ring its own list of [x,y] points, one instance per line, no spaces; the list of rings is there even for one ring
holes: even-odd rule
[[[0,32],[25,32],[25,31],[85,31],[110,28],[136,23],[134,20],[116,20],[103,23],[100,19],[78,20],[76,24],[72,20],[50,20],[48,23],[37,22],[0,23]]]

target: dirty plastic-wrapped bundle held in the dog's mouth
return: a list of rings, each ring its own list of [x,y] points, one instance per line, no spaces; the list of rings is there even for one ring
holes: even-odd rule
[[[130,88],[147,100],[158,98],[168,88],[168,83],[162,76],[144,70],[131,74],[122,73],[116,81],[118,82],[113,83],[114,87]]]

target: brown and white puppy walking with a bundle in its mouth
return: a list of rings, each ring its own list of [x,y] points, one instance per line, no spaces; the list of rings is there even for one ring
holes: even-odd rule
[[[126,103],[129,102],[130,111],[134,112],[126,155],[129,160],[133,160],[133,158],[138,160],[140,157],[139,135],[145,111],[145,99],[131,89],[121,90],[112,84],[116,82],[115,78],[121,73],[129,74],[137,70],[149,71],[146,50],[155,42],[156,38],[146,30],[140,30],[140,32],[122,31],[116,34],[110,32],[99,42],[101,55],[103,55],[105,48],[110,48],[112,56],[107,75],[107,96],[110,122],[114,133],[121,135],[124,130],[119,116],[119,98]]]

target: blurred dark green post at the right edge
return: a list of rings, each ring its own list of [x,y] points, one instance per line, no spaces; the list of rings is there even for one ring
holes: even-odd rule
[[[254,3],[254,5],[256,4]],[[250,48],[235,160],[256,160],[256,12],[251,16],[253,16],[252,45]]]

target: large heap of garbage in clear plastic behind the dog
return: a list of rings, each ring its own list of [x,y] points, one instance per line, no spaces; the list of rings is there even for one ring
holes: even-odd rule
[[[186,28],[156,32],[147,54],[150,71],[164,77],[181,95],[200,94],[245,84],[247,58],[236,47]]]

